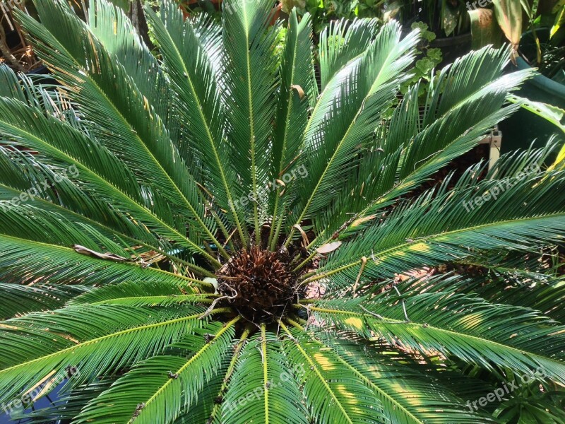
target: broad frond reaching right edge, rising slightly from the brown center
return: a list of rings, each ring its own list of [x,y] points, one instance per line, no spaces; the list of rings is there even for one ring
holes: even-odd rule
[[[485,249],[531,250],[561,241],[565,225],[562,177],[535,173],[521,180],[507,177],[479,183],[470,182],[470,177],[467,171],[452,191],[446,191],[447,180],[436,194],[424,192],[389,216],[383,215],[381,223],[333,252],[321,266],[325,272],[310,280],[337,274],[333,284],[340,285],[356,281],[357,276],[364,281],[391,278],[398,271],[398,261],[413,269]],[[499,196],[493,194],[495,187]],[[483,194],[493,201],[476,206],[474,199]]]

